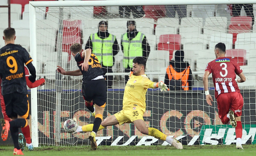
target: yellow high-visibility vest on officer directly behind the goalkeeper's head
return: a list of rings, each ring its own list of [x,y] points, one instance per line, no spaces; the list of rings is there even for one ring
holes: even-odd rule
[[[142,41],[145,35],[141,32],[138,32],[135,38],[129,40],[128,33],[125,33],[121,37],[121,44],[123,45],[124,50],[124,68],[128,66],[132,68],[132,61],[137,56],[142,56]]]

